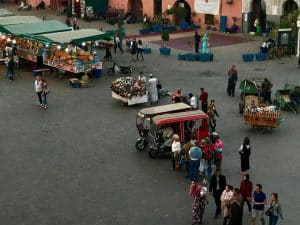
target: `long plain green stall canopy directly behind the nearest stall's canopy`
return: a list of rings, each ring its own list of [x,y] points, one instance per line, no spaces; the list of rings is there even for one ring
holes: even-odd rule
[[[38,35],[72,30],[71,27],[58,20],[45,20],[36,23],[7,25],[0,27],[0,29],[2,29],[2,32],[4,33],[15,36]]]

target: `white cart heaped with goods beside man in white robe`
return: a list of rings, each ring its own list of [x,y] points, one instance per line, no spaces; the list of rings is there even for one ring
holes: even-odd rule
[[[146,82],[133,77],[120,77],[110,86],[112,97],[128,105],[148,102]]]

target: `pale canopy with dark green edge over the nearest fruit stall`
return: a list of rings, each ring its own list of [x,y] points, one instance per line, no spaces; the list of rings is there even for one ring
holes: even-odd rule
[[[76,31],[36,35],[33,38],[42,42],[59,44],[74,43],[80,45],[82,42],[110,40],[112,36],[113,34],[110,32],[101,32],[96,29],[81,29]]]

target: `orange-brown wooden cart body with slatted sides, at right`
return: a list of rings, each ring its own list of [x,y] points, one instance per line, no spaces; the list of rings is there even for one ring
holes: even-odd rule
[[[251,125],[256,133],[265,133],[267,128],[271,130],[277,128],[280,124],[280,113],[278,111],[260,111],[253,112],[251,109],[245,109],[244,123]]]

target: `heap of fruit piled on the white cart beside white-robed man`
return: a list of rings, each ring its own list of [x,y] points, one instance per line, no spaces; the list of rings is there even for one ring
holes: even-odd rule
[[[111,83],[110,89],[124,98],[144,96],[147,94],[146,82],[133,77],[120,77]]]

